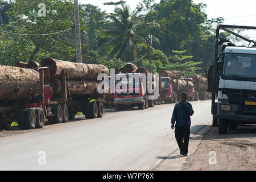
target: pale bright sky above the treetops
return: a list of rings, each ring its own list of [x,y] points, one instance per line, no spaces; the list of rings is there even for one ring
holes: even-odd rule
[[[99,6],[101,10],[112,12],[114,6],[104,6],[104,2],[118,2],[119,0],[79,0],[79,3],[90,3]],[[126,4],[134,10],[139,0],[127,0]],[[156,0],[159,3],[160,0]],[[193,0],[194,3],[204,3],[207,5],[205,13],[208,19],[222,16],[224,24],[236,24],[242,26],[256,26],[256,0]],[[256,30],[243,32],[243,35],[250,36],[256,40]]]

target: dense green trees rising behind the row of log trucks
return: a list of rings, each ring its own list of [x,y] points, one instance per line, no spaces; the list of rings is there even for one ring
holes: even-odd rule
[[[47,13],[39,17],[38,5],[42,2],[46,4]],[[90,4],[79,6],[83,63],[121,68],[125,62],[143,57],[148,53],[145,41],[148,23],[153,35],[151,59],[154,73],[175,69],[183,75],[192,75],[199,71],[199,64],[208,67],[212,63],[215,28],[224,19],[207,19],[205,4],[195,4],[192,0],[161,0],[159,3],[141,0],[135,11],[130,11],[125,1],[105,5],[115,6],[114,12],[106,14]],[[0,1],[0,30],[48,34],[71,28],[73,24],[73,0]],[[229,34],[220,35],[237,41]],[[74,29],[51,36],[0,32],[0,64],[40,61],[45,57],[75,61],[75,44]],[[135,64],[149,69],[148,55]]]

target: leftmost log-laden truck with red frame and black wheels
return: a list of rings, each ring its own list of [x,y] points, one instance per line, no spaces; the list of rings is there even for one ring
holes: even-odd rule
[[[87,119],[102,117],[104,95],[97,76],[104,65],[43,59],[36,69],[0,65],[0,127],[16,121],[20,129],[68,122],[81,111]]]

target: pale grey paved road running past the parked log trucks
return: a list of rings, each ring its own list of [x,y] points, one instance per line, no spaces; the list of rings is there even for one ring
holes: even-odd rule
[[[211,101],[191,102],[191,133],[211,121]],[[151,170],[177,150],[170,129],[174,104],[105,113],[0,138],[0,170]],[[39,165],[39,151],[46,165]]]

